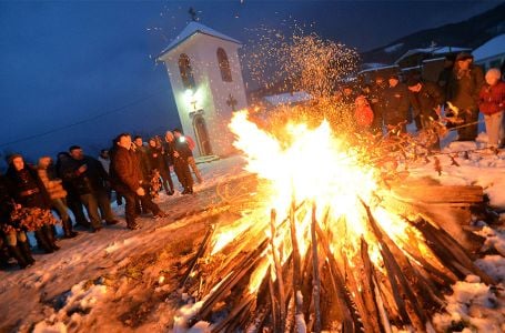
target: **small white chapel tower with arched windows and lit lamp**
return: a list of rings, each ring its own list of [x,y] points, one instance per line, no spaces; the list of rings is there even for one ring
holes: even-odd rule
[[[248,107],[238,50],[241,42],[190,22],[158,57],[166,65],[184,134],[195,155],[228,155],[233,111]]]

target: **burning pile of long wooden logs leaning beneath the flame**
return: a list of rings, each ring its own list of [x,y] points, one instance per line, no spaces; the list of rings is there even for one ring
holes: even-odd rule
[[[202,291],[186,327],[206,321],[212,332],[425,332],[451,284],[468,274],[494,284],[474,264],[481,240],[462,228],[483,204],[481,188],[402,185],[377,196],[373,205],[358,201],[361,233],[332,208],[317,219],[315,203],[294,199],[284,220],[272,211],[220,255],[205,250],[211,229],[181,280]],[[403,238],[377,210],[405,223]]]

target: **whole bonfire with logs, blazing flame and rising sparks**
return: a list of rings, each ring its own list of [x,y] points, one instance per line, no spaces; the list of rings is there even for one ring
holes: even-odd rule
[[[279,68],[296,69],[296,87],[316,101],[263,122],[234,113],[234,145],[261,181],[260,204],[209,228],[181,278],[188,304],[174,331],[434,331],[452,284],[494,283],[473,263],[478,240],[440,213],[469,220],[482,189],[402,182],[401,159],[420,148],[426,158],[430,142],[350,124],[331,82],[353,71],[352,50],[314,36],[280,50],[289,60]]]

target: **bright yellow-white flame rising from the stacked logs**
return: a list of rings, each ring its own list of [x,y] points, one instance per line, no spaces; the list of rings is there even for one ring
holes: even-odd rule
[[[322,226],[329,234],[331,250],[352,256],[358,251],[361,240],[364,240],[372,262],[378,270],[383,270],[380,242],[366,222],[365,202],[372,209],[376,222],[390,233],[400,249],[414,246],[416,251],[431,254],[418,231],[378,204],[377,193],[386,191],[378,185],[378,170],[360,163],[358,151],[332,133],[326,121],[315,129],[309,129],[305,124],[289,124],[281,141],[260,129],[248,117],[246,111],[233,115],[230,128],[236,135],[234,145],[245,154],[246,170],[270,183],[270,191],[263,200],[264,212],[261,216],[249,215],[248,221],[256,219],[253,223],[264,223],[272,208],[289,214],[293,200],[296,203],[315,202],[319,208],[317,220],[322,221],[325,216],[325,225]],[[280,220],[284,218],[287,215],[280,216]],[[310,244],[310,225],[311,214],[303,214],[296,220],[301,255]],[[213,253],[223,249],[246,228],[248,224],[240,221],[236,226],[218,234]],[[264,230],[269,238],[273,236],[266,223]],[[289,240],[289,226],[280,225],[273,240],[274,244],[283,244],[275,246],[281,249],[275,250],[279,251],[281,262],[292,251],[291,241],[285,241]],[[251,292],[259,287],[269,266],[272,266],[272,261],[263,260],[256,268],[257,273],[251,275]]]

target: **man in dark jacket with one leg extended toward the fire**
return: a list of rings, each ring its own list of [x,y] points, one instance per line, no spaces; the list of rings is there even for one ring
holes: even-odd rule
[[[131,150],[132,140],[130,134],[121,133],[114,140],[115,147],[111,150],[110,176],[112,188],[127,201],[125,219],[131,230],[139,229],[137,224],[135,204],[140,200],[142,206],[152,212],[153,218],[163,218],[166,214],[151,201],[142,188],[142,173],[135,153]]]

